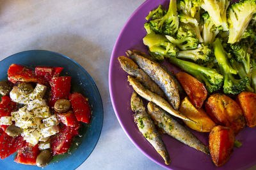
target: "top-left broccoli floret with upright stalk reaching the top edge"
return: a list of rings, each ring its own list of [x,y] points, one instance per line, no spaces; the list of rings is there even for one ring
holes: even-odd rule
[[[152,18],[150,24],[151,30],[164,35],[175,35],[179,27],[179,17],[177,13],[176,0],[170,0],[169,9],[167,12],[159,6],[156,10],[150,11],[146,19]],[[147,29],[148,30],[148,25]]]

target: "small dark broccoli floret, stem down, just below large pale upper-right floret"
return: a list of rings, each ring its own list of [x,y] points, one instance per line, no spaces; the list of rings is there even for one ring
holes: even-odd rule
[[[248,45],[246,43],[234,43],[230,44],[230,48],[232,52],[236,56],[237,62],[243,64],[244,71],[246,74],[250,72],[251,69],[251,60],[250,60],[250,53],[248,53]]]

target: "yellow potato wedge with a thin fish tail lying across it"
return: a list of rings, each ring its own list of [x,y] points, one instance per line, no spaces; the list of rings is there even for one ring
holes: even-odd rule
[[[211,129],[216,126],[202,108],[196,109],[195,106],[193,106],[188,97],[182,100],[179,111],[196,122],[183,121],[188,127],[195,131],[211,132]]]

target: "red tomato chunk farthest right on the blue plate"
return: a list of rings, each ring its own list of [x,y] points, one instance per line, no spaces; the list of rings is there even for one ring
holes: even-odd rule
[[[73,93],[69,96],[70,103],[78,121],[90,124],[91,110],[86,99],[82,94]]]

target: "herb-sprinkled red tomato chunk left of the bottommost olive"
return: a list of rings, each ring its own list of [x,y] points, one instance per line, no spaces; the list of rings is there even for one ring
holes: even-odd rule
[[[26,145],[17,153],[14,162],[35,166],[36,157],[39,153],[38,145],[33,146],[30,143],[26,143]]]

